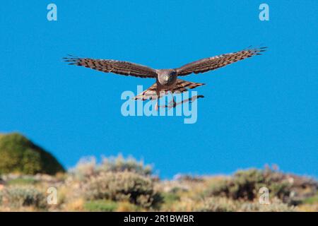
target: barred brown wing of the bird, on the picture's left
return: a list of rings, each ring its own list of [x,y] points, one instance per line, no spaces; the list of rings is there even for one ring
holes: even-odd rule
[[[117,73],[124,76],[135,76],[141,78],[156,78],[157,73],[154,69],[140,64],[127,61],[116,61],[112,59],[89,59],[78,57],[64,57],[64,61],[69,64],[85,66],[86,68],[103,71],[105,73]]]

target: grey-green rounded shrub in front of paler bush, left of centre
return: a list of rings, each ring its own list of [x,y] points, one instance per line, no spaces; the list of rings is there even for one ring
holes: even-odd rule
[[[134,172],[101,172],[87,177],[81,187],[88,200],[129,201],[144,208],[156,208],[162,201],[151,177]]]

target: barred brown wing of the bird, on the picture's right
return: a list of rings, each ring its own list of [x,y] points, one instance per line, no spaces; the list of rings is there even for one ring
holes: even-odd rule
[[[177,71],[177,76],[187,76],[190,73],[204,73],[206,71],[219,69],[223,66],[232,64],[248,57],[252,57],[254,55],[260,55],[261,52],[265,51],[265,49],[266,47],[261,47],[258,49],[244,49],[240,52],[209,57],[199,61],[194,61],[190,64],[186,64],[175,70]]]

